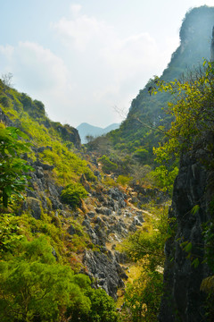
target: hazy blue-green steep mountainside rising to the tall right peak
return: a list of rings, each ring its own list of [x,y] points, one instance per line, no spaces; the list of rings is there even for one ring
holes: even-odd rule
[[[172,55],[171,61],[162,73],[161,80],[174,80],[183,73],[202,64],[203,58],[210,59],[210,38],[214,23],[214,7],[202,6],[185,14],[180,29],[180,46]],[[145,148],[152,162],[152,147],[161,141],[158,127],[171,122],[164,112],[171,99],[166,93],[151,95],[155,81],[149,80],[139,91],[130,106],[127,119],[119,130],[112,131],[108,137],[114,148],[128,154],[134,154],[139,148]],[[148,159],[141,160],[143,163]]]

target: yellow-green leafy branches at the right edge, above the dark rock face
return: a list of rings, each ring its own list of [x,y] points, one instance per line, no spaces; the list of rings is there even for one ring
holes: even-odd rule
[[[173,97],[168,113],[174,121],[166,131],[166,141],[154,148],[156,160],[169,164],[182,152],[193,147],[205,131],[213,131],[214,80],[213,63],[204,62],[204,69],[190,73],[185,80],[158,82],[158,90],[167,91]]]

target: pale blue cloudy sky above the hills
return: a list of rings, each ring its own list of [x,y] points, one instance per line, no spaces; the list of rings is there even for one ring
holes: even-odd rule
[[[11,72],[53,121],[119,123],[204,4],[214,0],[0,0],[0,78]]]

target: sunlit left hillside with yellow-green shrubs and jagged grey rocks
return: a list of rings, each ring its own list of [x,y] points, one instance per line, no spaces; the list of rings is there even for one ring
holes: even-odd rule
[[[146,200],[145,190],[133,198],[132,190],[125,191],[82,158],[78,131],[53,123],[41,102],[1,80],[0,123],[19,127],[29,136],[31,152],[22,158],[34,168],[24,199],[10,209],[0,208],[0,214],[12,212],[10,220],[29,240],[45,236],[57,261],[89,275],[95,287],[116,299],[128,276],[115,245],[142,225],[142,204],[157,191],[148,191]]]

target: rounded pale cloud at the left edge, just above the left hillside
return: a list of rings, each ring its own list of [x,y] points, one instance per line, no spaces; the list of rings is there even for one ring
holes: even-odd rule
[[[0,59],[7,64],[4,72],[12,72],[15,87],[42,100],[47,113],[59,119],[59,110],[68,107],[71,92],[62,58],[37,43],[20,42],[17,47],[0,47]]]

